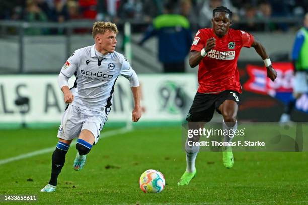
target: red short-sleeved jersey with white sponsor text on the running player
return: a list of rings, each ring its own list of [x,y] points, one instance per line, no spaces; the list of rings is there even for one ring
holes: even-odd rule
[[[233,90],[242,93],[237,61],[242,47],[250,48],[254,37],[241,30],[229,29],[219,38],[213,29],[200,29],[191,51],[201,51],[209,38],[216,39],[216,46],[200,61],[198,81],[200,93],[218,93]]]

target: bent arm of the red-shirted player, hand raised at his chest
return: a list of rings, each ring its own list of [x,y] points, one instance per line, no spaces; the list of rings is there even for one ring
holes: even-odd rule
[[[199,65],[200,61],[203,57],[206,56],[206,54],[212,50],[216,46],[216,39],[215,38],[209,38],[206,41],[206,46],[201,50],[201,52],[198,51],[191,51],[189,53],[189,65],[191,68],[196,67]]]

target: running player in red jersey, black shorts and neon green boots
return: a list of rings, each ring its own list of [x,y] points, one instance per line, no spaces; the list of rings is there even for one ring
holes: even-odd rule
[[[199,88],[186,117],[189,129],[198,129],[204,122],[209,122],[215,110],[223,116],[223,130],[237,129],[239,94],[242,92],[237,60],[242,47],[254,47],[264,61],[267,77],[272,81],[277,77],[263,45],[245,31],[230,29],[231,18],[232,12],[228,8],[217,7],[213,10],[213,28],[200,29],[195,36],[189,64],[192,68],[199,65]],[[199,138],[194,136],[192,140],[199,141]],[[224,142],[230,143],[231,140],[232,137],[224,136]],[[186,171],[178,185],[188,185],[196,175],[195,160],[199,146],[189,146],[186,142],[185,151]],[[226,168],[233,166],[230,147],[225,147],[222,159]]]

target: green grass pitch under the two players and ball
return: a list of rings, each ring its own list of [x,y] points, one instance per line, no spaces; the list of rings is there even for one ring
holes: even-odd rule
[[[236,152],[232,169],[224,168],[221,153],[200,152],[197,176],[178,187],[186,168],[180,126],[103,138],[106,131],[80,172],[72,168],[76,149],[69,149],[56,192],[39,192],[50,177],[46,153],[0,165],[0,195],[36,195],[34,204],[308,204],[307,152]],[[56,132],[0,130],[0,160],[55,146]],[[147,169],[164,174],[161,193],[140,190],[139,176]]]

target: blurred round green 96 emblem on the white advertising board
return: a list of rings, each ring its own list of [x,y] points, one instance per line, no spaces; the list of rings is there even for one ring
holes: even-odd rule
[[[165,81],[159,89],[161,110],[172,114],[181,113],[186,106],[186,94],[184,90],[173,81]]]

